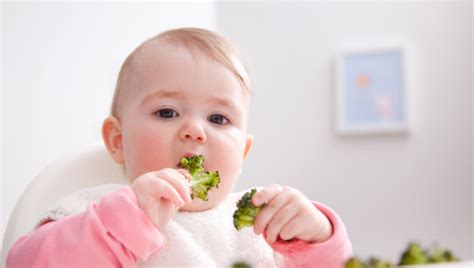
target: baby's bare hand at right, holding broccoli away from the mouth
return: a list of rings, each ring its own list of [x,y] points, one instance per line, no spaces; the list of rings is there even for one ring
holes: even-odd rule
[[[269,243],[274,243],[278,237],[324,242],[332,234],[326,216],[294,188],[273,184],[257,192],[252,201],[256,206],[267,203],[257,215],[254,232],[265,231]]]

